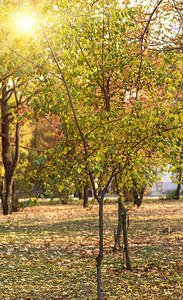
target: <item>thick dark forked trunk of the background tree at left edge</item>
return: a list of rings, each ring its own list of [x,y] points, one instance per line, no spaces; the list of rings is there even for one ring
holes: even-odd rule
[[[10,128],[9,124],[13,121],[12,115],[9,113],[8,99],[10,91],[7,90],[6,84],[2,84],[1,98],[1,138],[2,138],[2,158],[5,170],[5,179],[1,188],[1,199],[3,214],[8,215],[13,211],[13,184],[14,175],[20,156],[20,124],[16,123],[15,129],[15,154],[12,158],[10,144]]]

